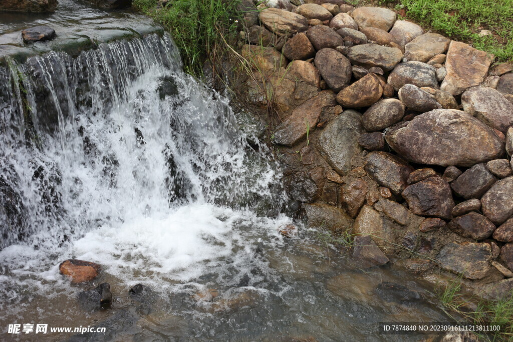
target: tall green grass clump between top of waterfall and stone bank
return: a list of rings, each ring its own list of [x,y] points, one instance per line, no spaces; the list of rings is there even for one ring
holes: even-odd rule
[[[172,35],[180,49],[184,69],[200,77],[203,63],[217,65],[226,52],[226,43],[236,37],[240,0],[134,0],[133,7],[153,17]]]

